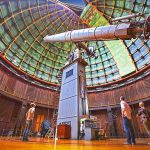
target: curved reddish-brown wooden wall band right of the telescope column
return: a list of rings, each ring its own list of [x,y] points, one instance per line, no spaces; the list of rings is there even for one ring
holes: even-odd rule
[[[150,76],[120,88],[88,93],[89,107],[99,108],[119,104],[122,95],[128,102],[150,98]]]

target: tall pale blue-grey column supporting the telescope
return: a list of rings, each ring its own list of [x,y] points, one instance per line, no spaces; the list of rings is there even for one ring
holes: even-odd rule
[[[85,66],[87,63],[77,58],[63,68],[58,124],[71,125],[71,139],[79,139],[79,120],[88,115]]]

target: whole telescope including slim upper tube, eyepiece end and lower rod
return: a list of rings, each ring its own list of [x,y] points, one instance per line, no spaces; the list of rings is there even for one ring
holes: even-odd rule
[[[85,47],[87,53],[91,52],[85,45],[80,42],[102,41],[102,40],[128,40],[143,36],[148,39],[150,36],[150,16],[139,21],[131,21],[132,18],[141,17],[142,14],[131,14],[124,17],[112,19],[111,22],[118,21],[117,24],[101,26],[95,28],[86,28],[68,31],[55,35],[47,35],[44,37],[45,42],[74,42],[79,43],[80,47]],[[119,22],[130,20],[129,22]],[[94,55],[94,54],[92,54]]]

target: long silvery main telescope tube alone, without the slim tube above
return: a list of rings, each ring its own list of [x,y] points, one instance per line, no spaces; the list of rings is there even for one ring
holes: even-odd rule
[[[68,31],[44,37],[45,42],[86,42],[99,40],[131,39],[135,38],[137,32],[142,32],[140,28],[133,30],[131,24],[109,25],[96,28],[86,28]]]

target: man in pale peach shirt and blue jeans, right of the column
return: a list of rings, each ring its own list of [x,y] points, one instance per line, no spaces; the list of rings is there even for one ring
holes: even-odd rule
[[[120,105],[121,105],[121,114],[123,118],[124,130],[126,132],[127,143],[126,144],[136,144],[134,130],[131,123],[131,108],[127,102],[124,101],[124,97],[120,97]]]

